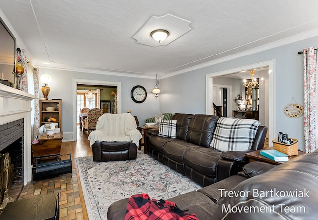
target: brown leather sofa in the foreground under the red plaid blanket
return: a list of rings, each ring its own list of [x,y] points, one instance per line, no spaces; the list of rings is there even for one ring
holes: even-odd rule
[[[237,175],[167,200],[199,220],[314,220],[317,167],[318,150],[278,166],[251,162]],[[123,220],[127,201],[113,203],[108,220]]]

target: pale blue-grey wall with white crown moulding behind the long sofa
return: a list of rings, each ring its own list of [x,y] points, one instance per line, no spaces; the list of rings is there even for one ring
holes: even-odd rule
[[[317,42],[318,37],[313,37],[162,79],[160,89],[165,95],[161,96],[160,108],[165,112],[205,113],[206,74],[274,59],[274,129],[298,139],[299,149],[304,150],[303,117],[289,118],[283,108],[292,97],[303,105],[303,58],[297,52],[310,46],[317,47]]]

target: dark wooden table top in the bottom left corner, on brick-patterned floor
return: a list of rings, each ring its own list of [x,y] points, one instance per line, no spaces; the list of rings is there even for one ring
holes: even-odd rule
[[[8,203],[0,219],[58,220],[59,194],[51,193]]]

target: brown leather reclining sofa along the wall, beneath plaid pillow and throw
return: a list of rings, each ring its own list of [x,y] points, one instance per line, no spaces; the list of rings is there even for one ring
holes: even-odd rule
[[[248,163],[245,153],[263,148],[267,127],[258,127],[251,150],[220,152],[210,148],[218,119],[213,115],[175,113],[170,120],[177,121],[177,138],[159,137],[159,129],[150,129],[147,153],[201,186],[235,175]]]

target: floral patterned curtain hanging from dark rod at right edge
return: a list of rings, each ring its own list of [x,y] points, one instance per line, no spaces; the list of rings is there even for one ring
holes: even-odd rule
[[[316,149],[316,51],[303,50],[304,60],[304,138],[307,153]]]

